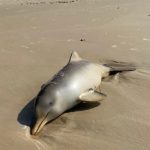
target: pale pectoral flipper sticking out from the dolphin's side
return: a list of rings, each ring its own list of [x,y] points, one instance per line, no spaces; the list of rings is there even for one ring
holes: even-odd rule
[[[106,97],[105,94],[94,91],[94,90],[88,90],[84,93],[82,93],[79,96],[79,99],[82,101],[100,101],[103,100]]]

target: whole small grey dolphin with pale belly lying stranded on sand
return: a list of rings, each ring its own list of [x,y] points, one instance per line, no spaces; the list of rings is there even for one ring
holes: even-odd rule
[[[114,65],[115,64],[115,65]],[[69,62],[41,87],[35,100],[36,122],[31,134],[36,135],[44,125],[81,101],[100,101],[106,97],[97,91],[102,78],[111,72],[133,71],[135,67],[114,63],[96,64],[72,52]]]

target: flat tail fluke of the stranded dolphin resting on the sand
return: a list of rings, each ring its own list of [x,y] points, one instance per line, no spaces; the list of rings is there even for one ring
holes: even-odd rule
[[[127,62],[111,61],[103,65],[105,67],[109,67],[109,75],[115,75],[116,73],[120,72],[136,70],[136,67],[133,64]]]

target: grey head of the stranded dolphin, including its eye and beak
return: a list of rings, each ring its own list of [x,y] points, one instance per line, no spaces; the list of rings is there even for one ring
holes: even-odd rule
[[[35,124],[31,127],[31,134],[36,135],[44,125],[61,114],[59,91],[53,86],[47,86],[39,92],[35,100]]]

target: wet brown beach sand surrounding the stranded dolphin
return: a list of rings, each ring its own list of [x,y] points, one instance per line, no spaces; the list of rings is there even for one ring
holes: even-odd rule
[[[0,149],[150,149],[149,15],[149,0],[1,0]],[[100,105],[81,104],[32,138],[30,102],[74,50],[137,70],[103,82]]]

